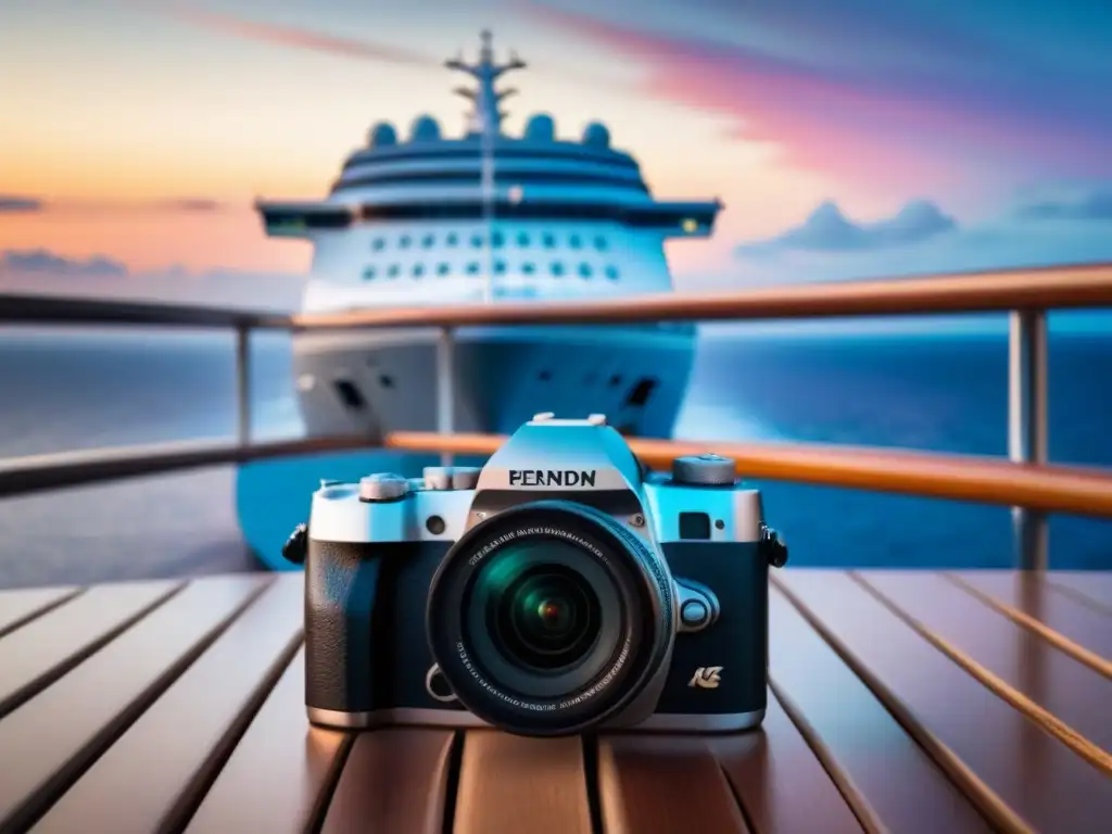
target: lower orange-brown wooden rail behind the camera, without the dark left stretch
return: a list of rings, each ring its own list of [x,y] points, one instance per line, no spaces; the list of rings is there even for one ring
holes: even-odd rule
[[[406,451],[490,455],[502,435],[395,431],[384,446]],[[682,455],[714,451],[737,460],[747,478],[898,493],[927,498],[1029,507],[1045,513],[1112,517],[1112,470],[1013,464],[1002,458],[926,451],[824,446],[763,445],[629,438],[654,469]]]

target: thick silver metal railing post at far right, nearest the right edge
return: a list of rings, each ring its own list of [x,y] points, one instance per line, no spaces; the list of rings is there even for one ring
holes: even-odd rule
[[[1021,464],[1045,464],[1046,312],[1013,310],[1009,317],[1007,456]],[[1012,508],[1017,565],[1045,570],[1050,535],[1045,513]]]

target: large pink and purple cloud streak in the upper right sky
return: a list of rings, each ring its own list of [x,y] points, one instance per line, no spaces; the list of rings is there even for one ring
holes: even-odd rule
[[[1092,168],[1098,149],[1061,125],[984,113],[959,95],[901,93],[739,48],[634,31],[537,9],[549,23],[639,60],[645,95],[733,121],[732,137],[777,146],[783,161],[856,186],[936,191],[1025,175]]]

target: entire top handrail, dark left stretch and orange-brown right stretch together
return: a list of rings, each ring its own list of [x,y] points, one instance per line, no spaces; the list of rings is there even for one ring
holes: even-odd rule
[[[0,321],[307,330],[800,319],[1083,307],[1112,307],[1112,265],[795,284],[698,295],[667,292],[594,301],[383,307],[296,316],[199,305],[0,294]]]

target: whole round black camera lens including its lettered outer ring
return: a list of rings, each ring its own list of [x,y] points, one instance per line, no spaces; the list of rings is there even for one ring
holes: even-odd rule
[[[567,502],[504,510],[465,534],[429,589],[429,647],[459,702],[524,735],[582,733],[663,668],[672,585],[610,516]]]

